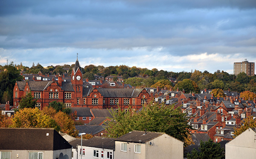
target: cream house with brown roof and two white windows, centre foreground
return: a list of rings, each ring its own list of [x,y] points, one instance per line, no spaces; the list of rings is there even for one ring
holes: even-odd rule
[[[115,139],[116,159],[183,159],[183,142],[166,133],[132,131]]]

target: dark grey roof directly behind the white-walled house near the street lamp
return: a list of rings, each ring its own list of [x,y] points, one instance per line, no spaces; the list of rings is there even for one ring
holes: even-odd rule
[[[87,133],[91,135],[95,135],[103,130],[105,127],[102,125],[76,125],[76,130],[79,130],[79,133]]]

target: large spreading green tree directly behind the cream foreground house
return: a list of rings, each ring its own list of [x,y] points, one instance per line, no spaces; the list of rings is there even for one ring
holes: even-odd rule
[[[134,110],[110,111],[113,118],[109,118],[106,130],[111,137],[122,136],[132,130],[147,129],[152,132],[163,132],[176,139],[184,141],[188,128],[186,113],[181,113],[180,107],[174,105],[153,103],[144,105],[139,113]]]

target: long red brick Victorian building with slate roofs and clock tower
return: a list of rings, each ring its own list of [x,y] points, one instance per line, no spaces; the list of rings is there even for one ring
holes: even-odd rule
[[[118,108],[122,110],[131,106],[140,109],[150,100],[145,89],[127,88],[87,88],[82,79],[79,61],[72,69],[71,82],[62,76],[52,81],[17,81],[13,91],[13,103],[19,106],[22,96],[31,92],[37,98],[36,107],[42,109],[52,101],[63,102],[66,107],[90,107],[93,109]]]

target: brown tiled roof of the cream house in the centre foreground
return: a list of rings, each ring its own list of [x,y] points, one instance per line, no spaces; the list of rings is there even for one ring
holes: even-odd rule
[[[147,132],[145,134],[145,131],[131,131],[129,133],[126,133],[125,135],[116,138],[116,141],[120,142],[135,142],[135,143],[146,143],[152,139],[157,138],[158,136],[161,136],[165,133],[155,133],[155,132]]]

